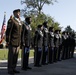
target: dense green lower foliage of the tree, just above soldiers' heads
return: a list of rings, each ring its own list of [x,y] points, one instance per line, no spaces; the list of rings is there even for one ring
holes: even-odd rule
[[[48,28],[50,26],[53,26],[54,29],[61,29],[60,24],[58,22],[54,21],[54,18],[51,16],[45,15],[45,14],[40,14],[39,16],[31,15],[32,18],[32,36],[34,35],[34,32],[39,24],[43,24],[44,21],[48,22]]]

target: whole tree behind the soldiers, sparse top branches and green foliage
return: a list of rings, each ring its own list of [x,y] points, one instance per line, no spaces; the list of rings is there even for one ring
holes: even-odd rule
[[[45,15],[42,12],[44,5],[54,4],[57,0],[22,0],[21,4],[25,4],[25,8],[22,9],[24,17],[32,17],[32,36],[36,30],[37,25],[42,24],[44,21],[48,22],[48,27],[53,26],[55,29],[59,28],[59,23],[54,21],[49,15]]]

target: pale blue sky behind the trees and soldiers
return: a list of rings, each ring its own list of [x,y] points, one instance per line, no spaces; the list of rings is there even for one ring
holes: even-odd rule
[[[0,30],[3,23],[4,12],[6,12],[7,21],[12,15],[14,9],[23,9],[21,0],[0,0]],[[45,5],[42,10],[46,15],[50,15],[56,22],[63,27],[63,30],[68,25],[76,31],[76,0],[58,0],[54,5]],[[23,20],[24,18],[21,17]]]

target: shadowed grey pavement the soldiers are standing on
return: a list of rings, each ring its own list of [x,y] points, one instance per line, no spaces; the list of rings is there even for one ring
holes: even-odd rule
[[[21,61],[19,61],[17,69],[20,71],[20,74],[15,75],[76,75],[76,54],[74,56],[75,58],[58,61],[39,68],[33,66],[33,58],[30,58],[29,65],[32,67],[32,70],[28,71],[21,70]],[[7,62],[0,63],[0,75],[8,75],[6,66]]]

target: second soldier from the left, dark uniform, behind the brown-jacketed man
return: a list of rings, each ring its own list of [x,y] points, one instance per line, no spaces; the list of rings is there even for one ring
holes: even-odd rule
[[[22,45],[22,70],[32,69],[28,66],[29,52],[31,44],[31,17],[26,17],[22,27],[21,45]]]

